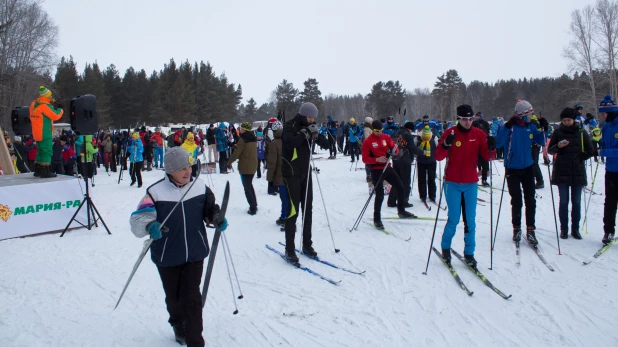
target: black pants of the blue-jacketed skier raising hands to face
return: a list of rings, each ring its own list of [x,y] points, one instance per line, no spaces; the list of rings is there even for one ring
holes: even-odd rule
[[[526,226],[535,226],[536,199],[534,197],[534,165],[525,169],[506,169],[506,182],[511,195],[513,227],[521,228],[521,209],[526,204]],[[522,201],[523,188],[523,201]]]

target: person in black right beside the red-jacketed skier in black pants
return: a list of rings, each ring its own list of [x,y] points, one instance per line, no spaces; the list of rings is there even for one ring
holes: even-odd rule
[[[408,123],[405,125],[408,125]],[[418,149],[414,143],[414,137],[411,134],[412,130],[410,130],[410,126],[414,127],[414,124],[410,123],[407,127],[405,125],[404,128],[399,129],[396,134],[391,135],[394,140],[396,139],[399,145],[399,155],[393,157],[393,169],[403,184],[403,206],[413,207],[414,205],[409,202],[410,191],[412,190],[412,163],[414,162],[414,157],[420,156],[423,151]],[[382,130],[382,133],[384,134],[384,130]],[[369,138],[369,136],[367,138]],[[388,200],[386,200],[386,206],[397,207],[397,197],[397,190],[391,188]]]

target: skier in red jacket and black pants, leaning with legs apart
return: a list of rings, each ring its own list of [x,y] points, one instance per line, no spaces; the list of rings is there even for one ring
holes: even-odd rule
[[[376,193],[373,205],[373,224],[378,229],[384,229],[381,217],[384,180],[388,181],[398,194],[397,214],[399,218],[416,218],[416,216],[405,210],[406,198],[403,183],[388,160],[388,157],[397,154],[399,149],[389,135],[382,134],[382,122],[377,119],[374,120],[371,123],[371,128],[373,132],[363,142],[363,163],[371,168],[371,180]],[[385,165],[388,166],[385,168]]]

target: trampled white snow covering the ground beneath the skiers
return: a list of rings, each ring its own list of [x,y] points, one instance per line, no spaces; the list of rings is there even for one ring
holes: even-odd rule
[[[321,154],[328,156],[328,154]],[[265,176],[255,179],[259,211],[248,205],[237,174],[213,175],[220,201],[231,184],[226,231],[245,298],[233,315],[232,294],[222,248],[204,311],[204,337],[210,346],[617,346],[618,300],[615,289],[618,248],[583,266],[601,246],[603,195],[592,197],[589,234],[581,241],[560,240],[558,255],[547,168],[546,188],[537,199],[537,237],[550,272],[525,244],[521,266],[511,242],[510,197],[505,194],[493,271],[489,270],[489,204],[478,207],[479,269],[507,294],[504,300],[454,259],[461,278],[474,291],[468,296],[432,254],[425,261],[433,221],[384,220],[374,229],[372,206],[358,230],[349,232],[367,199],[362,170],[349,171],[349,157],[316,162],[334,232],[336,254],[314,178],[313,241],[319,255],[335,264],[366,270],[346,273],[301,257],[301,263],[342,282],[332,285],[286,264],[265,248],[279,250],[284,234],[274,221],[280,200],[266,194]],[[501,163],[497,163],[502,173]],[[360,167],[360,165],[359,165]],[[603,192],[603,167],[595,191]],[[145,188],[162,171],[144,173],[144,187],[120,185],[117,175],[99,172],[93,200],[113,235],[102,227],[0,242],[0,346],[177,346],[167,323],[164,293],[155,266],[144,260],[117,310],[113,310],[142,248],[129,230],[129,215]],[[315,176],[314,176],[315,177]],[[495,174],[494,185],[503,176]],[[591,179],[589,178],[589,182]],[[497,206],[499,191],[494,192]],[[556,203],[558,194],[555,192]],[[489,194],[479,192],[489,201]],[[411,212],[435,217],[418,200],[414,187]],[[557,207],[556,207],[557,208]],[[396,211],[383,205],[383,216]],[[441,217],[446,217],[441,212]],[[495,216],[494,216],[495,218]],[[299,226],[300,227],[300,226]],[[438,223],[439,248],[444,222]],[[209,230],[212,239],[212,230]],[[463,225],[454,249],[463,253]],[[238,293],[236,294],[238,295]]]

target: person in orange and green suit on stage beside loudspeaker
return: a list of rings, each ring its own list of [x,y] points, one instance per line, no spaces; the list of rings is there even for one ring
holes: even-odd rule
[[[38,145],[38,152],[34,163],[35,177],[56,177],[56,174],[50,171],[54,121],[59,120],[63,112],[62,105],[56,103],[51,98],[51,91],[44,86],[40,86],[39,97],[30,104],[32,137]]]

